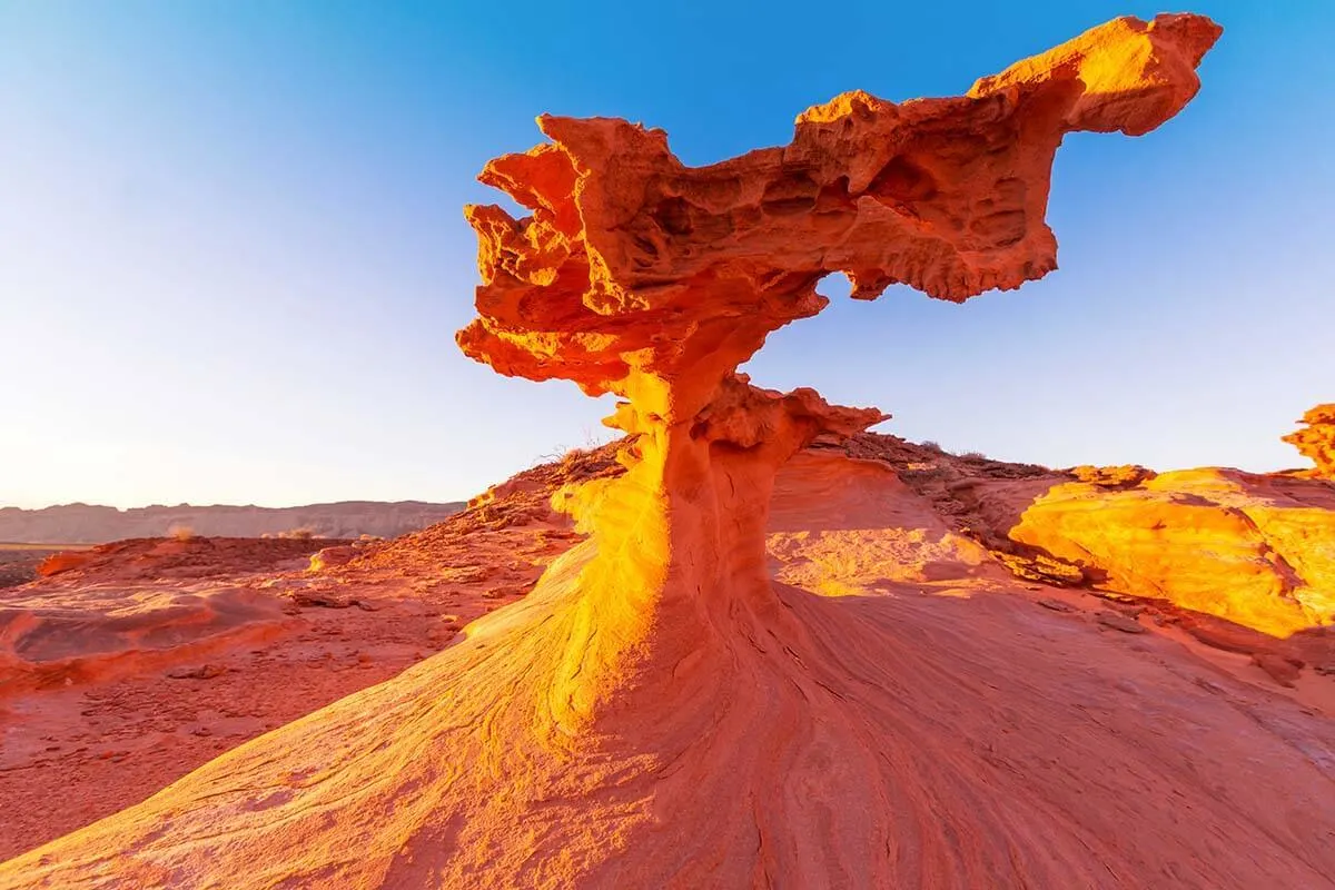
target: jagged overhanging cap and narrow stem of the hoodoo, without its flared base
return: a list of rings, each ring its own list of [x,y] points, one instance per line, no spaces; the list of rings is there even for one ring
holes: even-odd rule
[[[1056,268],[1044,213],[1061,139],[1161,124],[1196,93],[1195,68],[1219,33],[1200,16],[1117,19],[965,96],[844,93],[801,113],[788,145],[697,168],[661,129],[539,117],[550,143],[481,175],[531,216],[467,209],[483,283],[458,342],[501,374],[626,399],[609,424],[637,436],[630,472],[574,504],[610,554],[586,570],[590,591],[637,600],[645,632],[661,627],[657,612],[681,611],[676,626],[692,627],[680,600],[766,599],[774,472],[814,436],[885,415],[756,390],[737,366],[772,331],[820,312],[816,286],[832,272],[857,299],[905,283],[964,302]],[[665,647],[674,663],[706,638],[598,644]],[[582,719],[601,686],[583,659],[579,678],[587,689],[570,701]]]

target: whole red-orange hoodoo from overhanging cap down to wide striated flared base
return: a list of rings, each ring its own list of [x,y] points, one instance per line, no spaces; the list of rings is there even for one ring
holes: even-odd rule
[[[0,886],[1314,886],[1335,863],[1286,817],[1319,813],[1326,777],[1296,745],[1267,746],[1240,827],[1220,789],[1247,718],[1211,710],[1191,759],[1103,729],[1141,690],[1179,725],[1208,693],[1152,663],[1123,690],[1005,681],[1100,655],[1060,634],[976,646],[951,598],[917,606],[932,646],[906,648],[905,588],[772,582],[778,468],[885,415],[736,374],[822,308],[833,271],[858,298],[902,282],[956,302],[1051,271],[1061,137],[1163,123],[1218,35],[1119,19],[963,97],[846,93],[789,145],[704,168],[661,131],[542,117],[553,143],[482,175],[533,216],[469,209],[483,284],[459,344],[626,399],[627,471],[557,495],[591,539],[463,643],[12,861]],[[1189,826],[1155,818],[1168,790]]]

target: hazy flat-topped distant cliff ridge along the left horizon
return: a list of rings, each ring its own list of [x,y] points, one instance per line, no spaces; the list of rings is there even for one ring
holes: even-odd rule
[[[156,538],[175,528],[196,535],[259,538],[304,528],[319,538],[394,538],[425,528],[463,508],[462,503],[343,500],[306,507],[138,507],[117,510],[63,504],[43,510],[0,508],[0,542],[93,544]]]

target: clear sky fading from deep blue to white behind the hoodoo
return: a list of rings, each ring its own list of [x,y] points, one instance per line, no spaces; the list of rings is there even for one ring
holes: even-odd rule
[[[1335,3],[1192,9],[1224,25],[1196,100],[1059,152],[1057,272],[836,299],[754,382],[1001,459],[1302,466],[1279,436],[1335,399]],[[704,164],[846,89],[959,95],[1159,11],[0,0],[0,504],[466,498],[607,436],[606,402],[454,346],[461,207],[535,115],[639,120]]]

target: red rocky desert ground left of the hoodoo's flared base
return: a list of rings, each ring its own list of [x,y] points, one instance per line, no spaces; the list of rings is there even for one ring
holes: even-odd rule
[[[124,563],[5,591],[0,643],[15,642],[7,615],[73,612],[77,626],[25,648],[71,644],[84,656],[56,654],[40,689],[15,690],[15,677],[31,674],[0,648],[11,681],[8,694],[0,685],[0,859],[138,803],[222,751],[439,651],[466,623],[526,592],[550,555],[546,542],[542,528],[473,535],[457,542],[454,567],[441,564],[450,548],[437,548],[429,576],[368,568],[350,582],[311,575],[307,558],[250,574],[244,556],[228,555],[211,568],[222,576],[204,580],[127,583],[147,566]],[[238,595],[250,608],[235,624],[199,620],[215,611],[211,600]],[[116,607],[116,631],[162,627],[183,596],[199,600],[194,620],[167,643],[107,632]],[[104,658],[88,658],[92,638]]]

